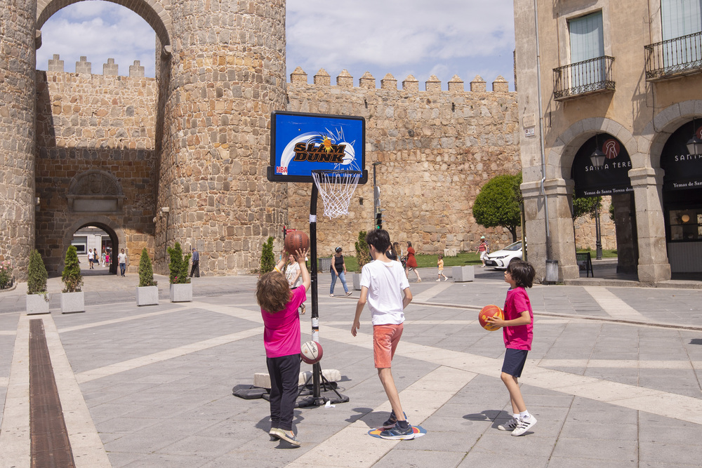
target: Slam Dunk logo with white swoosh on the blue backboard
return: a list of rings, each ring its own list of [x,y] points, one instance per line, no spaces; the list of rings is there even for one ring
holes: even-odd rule
[[[329,169],[359,171],[355,141],[345,141],[343,128],[324,130],[303,133],[290,140],[283,149],[280,166],[275,168],[276,173],[296,173],[293,166],[305,163],[313,163],[320,169],[326,168],[324,163],[329,163]]]

